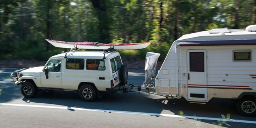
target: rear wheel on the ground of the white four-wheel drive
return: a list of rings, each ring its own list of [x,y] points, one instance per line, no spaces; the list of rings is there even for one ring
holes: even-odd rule
[[[95,87],[92,85],[83,85],[79,90],[79,95],[83,101],[90,102],[96,98],[97,93]]]

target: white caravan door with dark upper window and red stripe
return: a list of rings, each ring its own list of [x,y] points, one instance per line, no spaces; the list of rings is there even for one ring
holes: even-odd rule
[[[188,99],[207,100],[207,52],[188,50]]]

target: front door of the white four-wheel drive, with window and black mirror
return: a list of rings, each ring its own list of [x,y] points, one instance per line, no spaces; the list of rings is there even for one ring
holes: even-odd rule
[[[62,60],[50,60],[45,67],[49,71],[48,78],[43,71],[41,84],[43,87],[62,88]]]

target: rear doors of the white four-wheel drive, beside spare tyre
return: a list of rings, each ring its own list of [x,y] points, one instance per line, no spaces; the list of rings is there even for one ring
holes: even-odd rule
[[[110,64],[112,68],[113,82],[114,86],[118,85],[121,81],[119,79],[119,70],[122,66],[122,60],[120,56],[110,59]]]

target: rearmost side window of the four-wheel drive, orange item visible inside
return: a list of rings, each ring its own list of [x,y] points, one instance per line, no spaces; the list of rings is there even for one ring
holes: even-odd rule
[[[103,59],[87,59],[86,60],[87,70],[105,70],[105,61]]]

